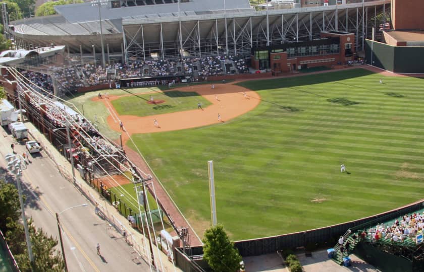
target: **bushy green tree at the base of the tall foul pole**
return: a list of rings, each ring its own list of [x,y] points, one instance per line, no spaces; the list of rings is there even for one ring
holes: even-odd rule
[[[207,229],[203,238],[203,259],[214,271],[235,272],[242,260],[222,225]]]

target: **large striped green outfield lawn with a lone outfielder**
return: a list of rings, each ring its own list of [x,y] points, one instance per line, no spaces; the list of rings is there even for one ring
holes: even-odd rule
[[[253,111],[134,141],[200,235],[210,224],[207,160],[218,221],[235,240],[374,215],[424,188],[424,80],[381,77],[358,69],[243,82],[261,97]]]

